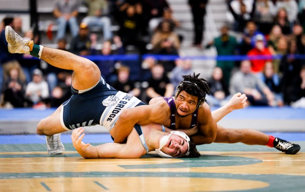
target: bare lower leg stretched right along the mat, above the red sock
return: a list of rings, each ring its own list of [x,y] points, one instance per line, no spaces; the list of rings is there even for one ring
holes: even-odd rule
[[[269,136],[253,129],[229,129],[217,124],[217,135],[214,142],[238,143],[247,145],[266,145]]]

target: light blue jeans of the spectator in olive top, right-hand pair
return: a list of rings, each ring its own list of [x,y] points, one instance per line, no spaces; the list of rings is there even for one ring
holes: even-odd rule
[[[112,38],[111,21],[109,17],[87,16],[83,19],[83,23],[86,23],[90,28],[95,26],[101,27],[104,34],[104,40]]]

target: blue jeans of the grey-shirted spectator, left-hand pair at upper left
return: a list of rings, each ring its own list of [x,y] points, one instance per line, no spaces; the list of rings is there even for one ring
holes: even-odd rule
[[[72,36],[75,37],[78,34],[79,28],[76,17],[70,17],[68,21],[65,20],[65,17],[60,17],[57,19],[57,24],[58,24],[57,37],[56,37],[57,40],[65,37],[67,23],[69,24]]]

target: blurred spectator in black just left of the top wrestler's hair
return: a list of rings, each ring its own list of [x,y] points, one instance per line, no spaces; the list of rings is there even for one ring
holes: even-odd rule
[[[154,97],[172,97],[174,95],[174,86],[164,73],[161,64],[152,67],[152,77],[148,80],[148,88],[146,89],[147,103]]]

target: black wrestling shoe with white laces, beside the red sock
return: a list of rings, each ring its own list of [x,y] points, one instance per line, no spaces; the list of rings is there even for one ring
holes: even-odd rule
[[[277,137],[274,138],[273,145],[277,150],[290,155],[298,153],[301,149],[300,145]]]

